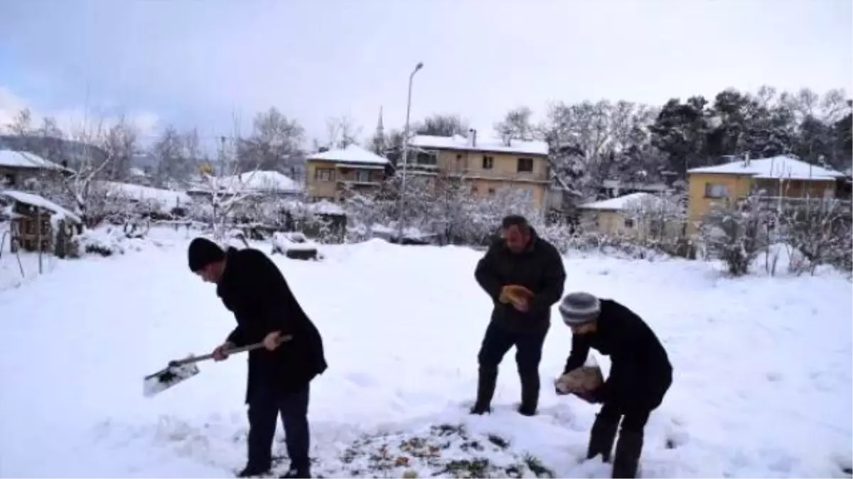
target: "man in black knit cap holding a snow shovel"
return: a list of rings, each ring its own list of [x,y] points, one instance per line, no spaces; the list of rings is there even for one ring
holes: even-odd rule
[[[327,368],[320,332],[276,264],[261,251],[223,251],[210,240],[196,238],[189,244],[188,256],[190,270],[216,283],[218,297],[237,320],[225,343],[213,350],[214,359],[223,361],[235,348],[264,343],[264,348],[249,352],[248,462],[238,476],[270,471],[276,420],[281,414],[291,461],[281,477],[309,478],[309,384]],[[289,340],[281,343],[285,337]]]

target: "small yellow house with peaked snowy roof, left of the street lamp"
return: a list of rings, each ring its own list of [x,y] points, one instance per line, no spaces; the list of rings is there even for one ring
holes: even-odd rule
[[[305,182],[310,199],[340,201],[347,193],[374,193],[385,179],[388,159],[358,145],[312,154]]]

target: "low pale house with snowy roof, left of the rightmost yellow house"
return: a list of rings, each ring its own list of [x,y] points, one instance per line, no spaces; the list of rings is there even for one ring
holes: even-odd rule
[[[682,235],[682,208],[652,193],[630,193],[577,207],[583,231],[636,240]]]

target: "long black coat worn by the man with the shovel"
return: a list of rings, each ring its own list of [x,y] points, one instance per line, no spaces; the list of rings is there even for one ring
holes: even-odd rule
[[[247,402],[259,381],[278,392],[296,392],[326,371],[320,332],[293,297],[276,263],[263,252],[229,248],[217,295],[237,320],[228,336],[236,346],[259,343],[274,331],[293,336],[274,351],[249,352]]]

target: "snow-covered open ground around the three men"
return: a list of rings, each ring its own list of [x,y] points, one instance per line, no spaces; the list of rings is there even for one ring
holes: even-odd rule
[[[182,233],[60,262],[0,291],[0,477],[224,479],[243,465],[245,360],[206,363],[142,397],[143,375],[208,352],[234,326],[213,286],[189,273],[186,245]],[[571,341],[558,322],[540,414],[514,412],[510,353],[496,413],[467,416],[490,313],[473,280],[481,253],[378,240],[324,253],[323,263],[276,257],[326,345],[329,369],[311,390],[317,474],[424,477],[453,458],[485,458],[609,479],[598,460],[578,464],[597,409],[549,387]],[[625,303],[670,352],[675,383],[647,427],[643,479],[853,476],[843,471],[853,467],[853,286],[843,277],[728,280],[708,263],[606,257],[570,257],[566,269],[566,291]]]

